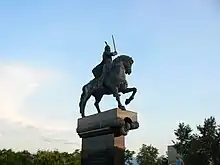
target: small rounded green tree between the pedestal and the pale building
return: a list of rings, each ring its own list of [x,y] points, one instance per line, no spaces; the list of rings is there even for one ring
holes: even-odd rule
[[[139,165],[156,165],[158,154],[157,148],[143,144],[136,159]]]

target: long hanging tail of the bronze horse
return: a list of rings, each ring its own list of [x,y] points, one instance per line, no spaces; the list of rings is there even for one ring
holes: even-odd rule
[[[80,96],[80,102],[79,102],[80,113],[82,115],[84,115],[86,102],[88,101],[88,99],[91,97],[93,93],[91,82],[92,81],[90,81],[88,84],[82,87],[82,94]]]

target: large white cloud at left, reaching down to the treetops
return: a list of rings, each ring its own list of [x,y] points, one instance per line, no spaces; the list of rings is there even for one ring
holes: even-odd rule
[[[57,78],[61,78],[60,74],[51,70],[17,63],[0,63],[0,144],[2,147],[15,150],[28,149],[31,152],[56,148],[62,151],[73,151],[74,148],[79,148],[80,139],[74,131],[75,128],[72,128],[69,123],[51,118],[43,120],[24,113],[29,97],[39,92],[44,85],[57,82]],[[43,109],[41,105],[37,106],[35,110]]]

